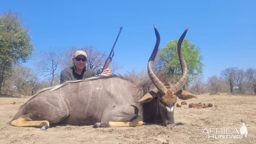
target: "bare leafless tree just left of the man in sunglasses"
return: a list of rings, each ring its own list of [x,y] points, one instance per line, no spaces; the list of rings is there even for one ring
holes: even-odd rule
[[[50,86],[53,86],[53,82],[56,70],[62,62],[63,52],[60,49],[49,50],[48,52],[41,52],[41,61],[37,63],[37,70],[44,74],[44,76],[51,76]]]

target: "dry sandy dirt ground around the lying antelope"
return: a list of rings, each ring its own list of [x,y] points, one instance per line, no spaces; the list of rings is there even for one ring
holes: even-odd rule
[[[174,128],[160,124],[97,129],[92,126],[52,125],[43,131],[40,128],[8,125],[18,108],[27,100],[28,98],[0,96],[0,144],[256,144],[256,96],[198,95],[198,98],[186,102],[211,102],[218,107],[175,107],[174,118],[177,125]],[[12,102],[16,104],[11,104]],[[209,131],[210,128],[220,128],[218,134],[213,130],[210,136],[237,135],[243,122],[246,126],[250,124],[247,127],[248,138],[208,138],[206,130]],[[221,128],[228,128],[228,133],[234,133],[221,134],[224,133]]]

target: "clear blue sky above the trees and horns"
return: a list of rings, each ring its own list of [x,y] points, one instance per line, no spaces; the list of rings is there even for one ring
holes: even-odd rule
[[[186,38],[201,48],[207,79],[229,67],[256,68],[255,6],[255,0],[4,0],[0,13],[11,9],[21,15],[35,52],[94,46],[108,54],[123,26],[114,56],[123,66],[118,73],[146,70],[154,24],[160,48],[190,26]],[[34,69],[35,61],[24,65]]]

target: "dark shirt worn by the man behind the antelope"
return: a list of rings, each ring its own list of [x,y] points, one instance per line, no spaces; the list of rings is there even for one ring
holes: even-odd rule
[[[83,80],[96,75],[97,75],[97,72],[88,68],[84,68],[84,70],[82,71],[82,74],[78,74],[74,71],[73,66],[70,66],[62,70],[62,72],[60,73],[60,84],[62,84],[65,81]]]

